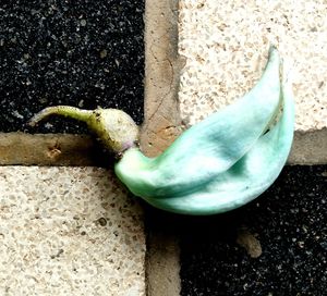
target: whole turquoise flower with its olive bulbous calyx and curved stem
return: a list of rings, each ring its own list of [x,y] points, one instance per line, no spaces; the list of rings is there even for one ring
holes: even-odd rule
[[[134,195],[167,211],[199,215],[232,210],[266,190],[287,161],[294,125],[290,82],[280,79],[275,48],[249,94],[185,131],[156,158],[138,149],[138,130],[122,111],[50,107],[32,124],[50,114],[86,122],[121,156],[114,171]]]

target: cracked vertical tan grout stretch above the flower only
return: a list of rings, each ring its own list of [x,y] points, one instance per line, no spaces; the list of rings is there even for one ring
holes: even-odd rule
[[[141,144],[147,156],[167,148],[181,132],[178,108],[178,1],[146,1],[145,104]]]

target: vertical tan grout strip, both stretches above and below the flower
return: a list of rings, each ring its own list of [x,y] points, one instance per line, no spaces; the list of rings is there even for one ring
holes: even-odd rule
[[[178,5],[178,0],[148,0],[145,5],[145,121],[141,146],[149,157],[165,150],[181,133]],[[147,295],[180,295],[178,238],[170,232],[155,230],[152,221],[145,225]]]

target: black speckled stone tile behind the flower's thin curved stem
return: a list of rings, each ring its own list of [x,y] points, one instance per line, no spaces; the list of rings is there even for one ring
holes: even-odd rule
[[[143,120],[144,0],[0,1],[0,131],[40,109],[119,108]],[[29,132],[80,133],[52,120]]]

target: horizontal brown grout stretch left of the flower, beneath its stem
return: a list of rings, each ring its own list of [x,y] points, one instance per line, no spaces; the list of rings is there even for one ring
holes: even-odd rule
[[[93,165],[86,135],[0,133],[0,165]]]

